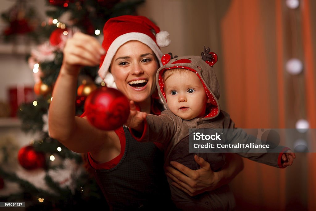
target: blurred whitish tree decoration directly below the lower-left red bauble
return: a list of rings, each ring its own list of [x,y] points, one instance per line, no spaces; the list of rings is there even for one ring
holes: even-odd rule
[[[46,171],[42,168],[35,170],[26,170],[19,166],[16,175],[23,180],[28,181],[33,184],[37,189],[45,190],[49,193],[55,193],[52,189],[48,187],[45,181]]]

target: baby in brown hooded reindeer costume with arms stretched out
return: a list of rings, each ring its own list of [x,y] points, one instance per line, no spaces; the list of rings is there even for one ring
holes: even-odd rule
[[[225,140],[229,143],[253,143],[254,137],[235,128],[230,116],[220,110],[220,89],[213,69],[217,55],[210,52],[209,48],[204,48],[201,55],[171,58],[169,54],[165,54],[161,59],[163,66],[157,71],[156,84],[167,110],[160,116],[146,115],[136,111],[131,102],[131,115],[126,125],[132,128],[131,133],[135,136],[137,135],[133,130],[142,133],[138,137],[139,141],[165,144],[165,165],[170,161],[177,161],[197,170],[199,166],[194,162],[197,154],[210,163],[213,171],[219,171],[225,164],[225,153],[189,152],[189,129],[230,128],[224,133]],[[241,151],[238,154],[279,168],[291,165],[295,153],[287,147],[277,148],[279,153]],[[168,182],[171,184],[171,179]],[[234,196],[227,185],[194,197],[172,185],[170,189],[173,202],[182,210],[234,209]]]

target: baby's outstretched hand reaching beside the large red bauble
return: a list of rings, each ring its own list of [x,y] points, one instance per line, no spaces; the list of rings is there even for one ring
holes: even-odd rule
[[[144,119],[146,118],[146,112],[140,112],[136,110],[134,101],[130,101],[130,115],[125,123],[127,127],[130,127],[138,132],[143,132]]]

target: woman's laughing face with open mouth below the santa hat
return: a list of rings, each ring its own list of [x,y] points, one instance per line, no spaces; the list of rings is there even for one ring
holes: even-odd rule
[[[154,52],[139,41],[129,41],[119,47],[111,62],[114,82],[125,96],[134,102],[144,102],[156,89],[158,63]]]

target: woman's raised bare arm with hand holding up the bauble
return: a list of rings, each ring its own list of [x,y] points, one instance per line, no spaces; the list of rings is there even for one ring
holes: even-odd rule
[[[114,132],[94,128],[87,119],[75,116],[77,80],[82,66],[95,66],[102,53],[100,43],[92,36],[76,33],[64,47],[63,64],[58,75],[49,108],[49,134],[70,150],[98,152],[111,150]],[[104,140],[108,141],[104,141]],[[108,144],[109,147],[105,147]]]

